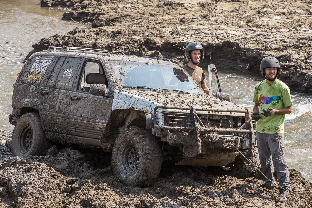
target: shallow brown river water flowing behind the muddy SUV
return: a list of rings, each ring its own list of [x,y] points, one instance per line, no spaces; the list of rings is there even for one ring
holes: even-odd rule
[[[13,129],[8,122],[12,113],[12,85],[31,45],[43,37],[66,34],[75,27],[89,25],[62,21],[64,11],[40,7],[35,0],[0,0],[0,128]],[[206,76],[207,76],[207,72]],[[252,109],[254,87],[262,80],[259,73],[218,69],[222,91],[232,102]],[[208,76],[207,76],[208,77]],[[285,151],[290,168],[312,180],[312,97],[291,92],[293,112],[285,118]]]

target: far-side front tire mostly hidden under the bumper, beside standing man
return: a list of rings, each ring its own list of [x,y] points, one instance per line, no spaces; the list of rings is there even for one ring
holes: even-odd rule
[[[258,157],[258,151],[257,147],[254,146],[252,148],[252,154],[251,157],[248,158],[252,164],[257,166],[257,157]],[[256,172],[256,168],[250,163],[248,160],[245,159],[245,157],[238,155],[235,158],[235,161],[227,165],[229,167],[228,170],[225,170],[221,167],[222,171],[227,172],[229,175],[237,178],[247,178],[250,177],[252,174]]]

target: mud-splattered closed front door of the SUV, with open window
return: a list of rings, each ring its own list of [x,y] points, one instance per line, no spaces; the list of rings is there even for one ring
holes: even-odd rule
[[[112,110],[113,99],[108,94],[97,96],[89,93],[90,84],[85,79],[89,73],[105,75],[103,61],[84,60],[80,79],[70,97],[69,129],[75,136],[100,139]],[[110,89],[106,75],[105,85]]]

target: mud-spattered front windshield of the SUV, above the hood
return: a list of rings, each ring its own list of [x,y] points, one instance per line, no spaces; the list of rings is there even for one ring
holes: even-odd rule
[[[122,66],[113,62],[110,65],[114,79],[121,87],[139,86],[203,94],[197,83],[179,66],[133,61],[123,61]]]

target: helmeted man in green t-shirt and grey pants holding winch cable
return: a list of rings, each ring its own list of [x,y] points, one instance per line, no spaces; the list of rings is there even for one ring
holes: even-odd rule
[[[280,72],[280,64],[276,58],[269,56],[262,59],[260,71],[266,79],[256,85],[252,114],[252,118],[257,121],[260,165],[266,177],[274,183],[275,169],[279,185],[291,191],[284,151],[284,119],[285,114],[291,113],[293,104],[290,90],[285,83],[276,79]],[[275,184],[270,180],[266,179],[261,187],[273,189]],[[290,195],[285,190],[279,188],[280,195],[276,201],[286,201]]]

